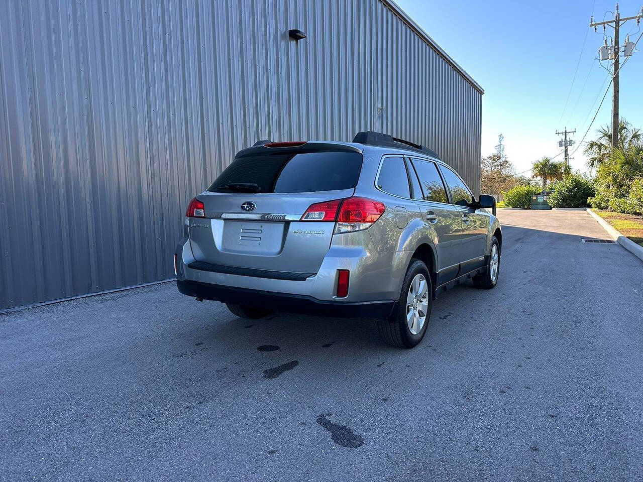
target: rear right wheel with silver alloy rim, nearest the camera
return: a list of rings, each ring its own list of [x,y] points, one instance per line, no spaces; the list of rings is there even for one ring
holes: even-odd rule
[[[388,320],[377,321],[382,339],[398,348],[413,348],[424,338],[431,316],[433,286],[421,260],[411,260],[400,292],[399,306]]]

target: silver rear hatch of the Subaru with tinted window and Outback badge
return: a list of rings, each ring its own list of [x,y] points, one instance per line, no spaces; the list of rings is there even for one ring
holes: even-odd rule
[[[190,218],[190,244],[197,262],[217,265],[219,271],[221,265],[308,276],[318,271],[335,222],[315,220],[321,219],[319,213],[307,215],[312,220],[301,220],[302,216],[311,205],[322,203],[323,210],[323,203],[353,195],[361,152],[332,143],[273,146],[239,152],[197,196],[206,218]]]

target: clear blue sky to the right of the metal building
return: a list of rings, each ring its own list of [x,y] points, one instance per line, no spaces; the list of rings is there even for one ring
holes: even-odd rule
[[[560,152],[556,130],[575,128],[577,134],[572,137],[581,141],[609,83],[608,72],[594,60],[604,37],[600,27],[597,33],[593,28],[588,30],[590,15],[595,21],[613,18],[611,13],[606,14],[614,10],[613,1],[396,3],[484,87],[483,156],[493,152],[502,132],[507,156],[521,172],[534,160]],[[621,17],[636,15],[642,5],[641,0],[619,2]],[[628,32],[635,42],[643,31],[641,23],[639,30],[636,21],[626,22],[620,30],[620,43]],[[606,33],[613,35],[613,30],[608,28]],[[641,51],[620,71],[620,115],[643,127],[643,39],[637,49]],[[608,67],[608,62],[602,64]],[[611,88],[586,140],[597,127],[610,121]],[[570,160],[574,169],[585,170],[582,150]]]

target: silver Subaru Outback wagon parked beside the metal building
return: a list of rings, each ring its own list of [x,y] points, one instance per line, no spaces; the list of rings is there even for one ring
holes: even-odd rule
[[[190,202],[177,287],[245,318],[373,317],[412,348],[440,290],[498,282],[494,214],[494,197],[475,199],[435,152],[386,134],[258,141]]]

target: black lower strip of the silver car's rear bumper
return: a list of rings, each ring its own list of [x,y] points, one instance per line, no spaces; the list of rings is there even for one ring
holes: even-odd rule
[[[276,293],[191,280],[177,280],[176,286],[181,293],[195,298],[318,316],[388,317],[399,303],[398,301],[322,301],[302,294]]]

